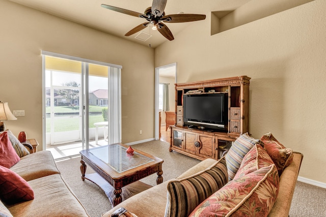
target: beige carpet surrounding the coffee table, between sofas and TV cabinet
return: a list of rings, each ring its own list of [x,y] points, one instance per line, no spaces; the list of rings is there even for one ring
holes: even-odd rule
[[[132,148],[139,149],[146,153],[152,154],[164,160],[162,164],[163,181],[179,176],[183,171],[193,167],[200,161],[185,156],[178,152],[169,151],[169,143],[163,141],[150,141],[142,144],[132,145]],[[93,182],[89,180],[82,181],[80,178],[80,157],[57,162],[58,169],[62,173],[64,179],[84,205],[90,216],[98,217],[102,213],[111,209],[111,203],[105,193]],[[86,173],[94,171],[87,167]],[[156,174],[152,174],[142,182],[156,185]],[[141,216],[140,216],[141,217]]]

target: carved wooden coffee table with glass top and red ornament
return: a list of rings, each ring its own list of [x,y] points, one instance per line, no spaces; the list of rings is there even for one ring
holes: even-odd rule
[[[113,206],[121,203],[122,187],[126,185],[154,173],[157,174],[157,184],[163,181],[162,159],[135,149],[133,154],[128,154],[126,153],[127,148],[128,146],[122,143],[116,143],[79,152],[82,157],[82,160],[80,160],[82,164],[80,166],[82,180],[88,179],[96,183],[104,190]],[[96,173],[85,174],[87,168],[86,164]],[[113,201],[110,196],[112,189],[110,190],[105,187],[107,183],[114,188]],[[150,187],[150,185],[148,186]]]

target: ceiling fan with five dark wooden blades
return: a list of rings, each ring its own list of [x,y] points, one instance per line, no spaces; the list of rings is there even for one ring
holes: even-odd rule
[[[123,14],[144,18],[147,22],[144,22],[133,29],[131,29],[125,36],[131,36],[140,30],[146,28],[149,24],[152,24],[156,27],[158,32],[164,37],[172,41],[174,39],[170,29],[162,22],[177,23],[177,22],[192,22],[198,20],[204,20],[206,15],[202,14],[170,14],[165,15],[164,9],[167,4],[167,0],[153,0],[152,7],[149,7],[145,10],[144,14],[129,11],[127,9],[122,9],[110,5],[101,5],[103,8],[120,12]]]

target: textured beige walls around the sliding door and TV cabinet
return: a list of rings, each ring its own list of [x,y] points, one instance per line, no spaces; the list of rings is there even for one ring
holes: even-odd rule
[[[25,130],[42,141],[41,50],[123,66],[125,143],[154,136],[154,67],[177,63],[178,82],[248,75],[252,136],[270,131],[285,146],[304,153],[301,177],[326,183],[325,10],[326,1],[316,0],[213,36],[207,11],[206,20],[192,23],[154,53],[0,0],[0,100],[11,110],[25,110],[24,117],[7,121],[7,126],[16,135]]]

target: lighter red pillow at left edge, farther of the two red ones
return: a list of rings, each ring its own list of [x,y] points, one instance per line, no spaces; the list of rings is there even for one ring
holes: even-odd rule
[[[10,168],[18,161],[20,158],[11,144],[7,132],[0,134],[0,165]]]

